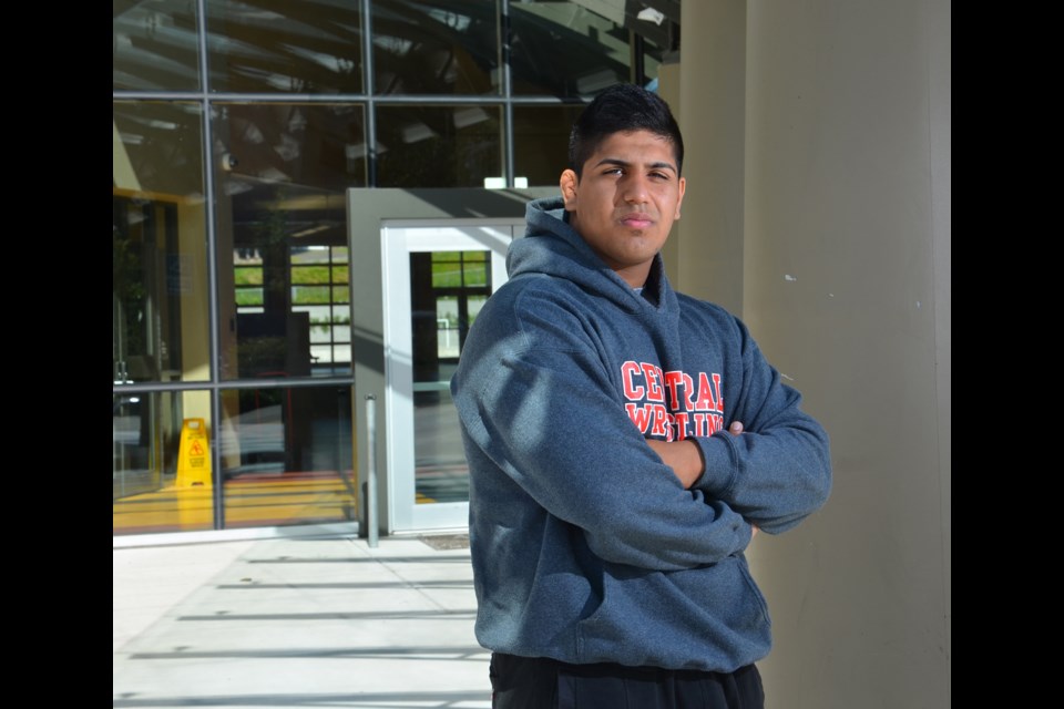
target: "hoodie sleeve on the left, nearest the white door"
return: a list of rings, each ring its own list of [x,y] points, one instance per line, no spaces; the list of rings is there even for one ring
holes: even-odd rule
[[[466,435],[491,474],[579,527],[610,562],[674,571],[741,552],[750,524],[724,500],[685,490],[646,445],[593,326],[535,289],[501,300],[489,304],[503,311],[471,335],[452,380]]]

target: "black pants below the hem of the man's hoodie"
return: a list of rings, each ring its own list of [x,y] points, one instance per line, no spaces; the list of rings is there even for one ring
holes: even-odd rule
[[[763,709],[761,676],[491,656],[492,709]]]

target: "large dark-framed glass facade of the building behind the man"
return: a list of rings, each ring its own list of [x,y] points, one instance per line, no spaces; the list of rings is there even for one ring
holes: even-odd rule
[[[598,4],[113,1],[115,535],[358,516],[346,191],[556,184],[580,107],[678,42]],[[433,259],[428,412],[490,282]],[[463,500],[413,445],[419,496]]]

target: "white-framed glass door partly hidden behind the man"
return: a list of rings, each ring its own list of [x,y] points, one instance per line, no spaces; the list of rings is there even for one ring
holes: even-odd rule
[[[450,380],[507,279],[512,224],[382,227],[388,501],[397,532],[464,527],[469,471]]]

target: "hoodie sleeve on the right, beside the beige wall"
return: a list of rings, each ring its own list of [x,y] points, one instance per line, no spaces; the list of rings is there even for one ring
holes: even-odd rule
[[[741,348],[740,386],[726,393],[726,430],[695,439],[705,472],[695,484],[771,534],[816,512],[831,490],[828,434],[801,410],[801,394],[782,383],[746,327],[735,320]]]

